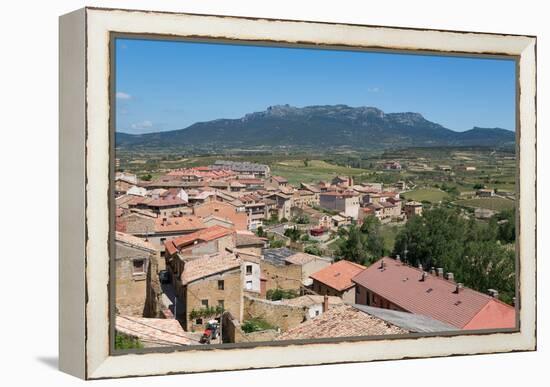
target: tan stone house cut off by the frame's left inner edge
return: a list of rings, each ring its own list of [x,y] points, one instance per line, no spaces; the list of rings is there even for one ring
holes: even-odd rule
[[[158,250],[130,234],[115,233],[115,302],[119,313],[143,316],[147,296],[147,273]]]

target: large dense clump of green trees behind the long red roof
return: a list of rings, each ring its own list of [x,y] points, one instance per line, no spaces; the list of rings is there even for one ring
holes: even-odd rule
[[[514,242],[515,211],[478,222],[456,209],[433,208],[406,223],[393,254],[425,268],[443,267],[457,282],[480,292],[496,289],[510,303],[515,295]]]

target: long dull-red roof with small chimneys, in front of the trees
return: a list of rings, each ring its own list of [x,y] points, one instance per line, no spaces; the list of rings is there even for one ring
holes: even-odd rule
[[[421,276],[420,269],[383,257],[353,277],[352,281],[408,312],[429,316],[460,329],[515,326],[513,307],[466,287],[456,293],[456,284],[444,278],[428,274],[421,281]],[[489,303],[498,303],[499,307],[489,310]],[[503,315],[506,317],[501,318]],[[511,315],[514,316],[513,324],[510,324]]]

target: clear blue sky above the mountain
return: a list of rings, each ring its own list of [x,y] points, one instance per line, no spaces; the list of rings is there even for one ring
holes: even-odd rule
[[[511,60],[117,39],[117,131],[240,118],[270,105],[418,112],[449,129],[515,130]]]

